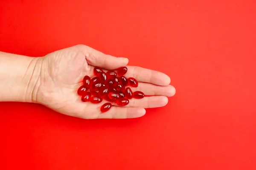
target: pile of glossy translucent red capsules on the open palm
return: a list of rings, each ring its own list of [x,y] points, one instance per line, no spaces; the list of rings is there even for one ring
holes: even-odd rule
[[[96,77],[84,76],[83,85],[77,93],[83,102],[100,103],[103,99],[108,102],[101,106],[101,112],[108,111],[113,103],[119,106],[129,104],[129,99],[142,99],[144,93],[141,91],[132,92],[131,86],[138,87],[138,81],[133,77],[126,78],[127,67],[120,67],[116,71],[104,72],[102,68],[95,67],[93,72]]]

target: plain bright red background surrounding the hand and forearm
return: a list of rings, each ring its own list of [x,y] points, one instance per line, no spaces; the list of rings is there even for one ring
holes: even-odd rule
[[[255,0],[2,0],[0,51],[85,44],[165,72],[177,92],[122,120],[0,103],[1,169],[255,170],[255,18]]]

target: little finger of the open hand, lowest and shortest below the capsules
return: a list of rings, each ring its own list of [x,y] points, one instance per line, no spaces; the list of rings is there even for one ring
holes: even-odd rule
[[[125,108],[125,107],[116,107],[112,108],[105,112],[100,113],[98,119],[127,119],[127,118],[137,118],[144,116],[146,113],[144,108]]]

